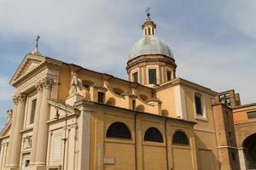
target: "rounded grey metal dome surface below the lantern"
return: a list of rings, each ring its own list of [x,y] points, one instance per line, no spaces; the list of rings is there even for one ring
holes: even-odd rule
[[[131,48],[129,59],[144,54],[163,54],[173,59],[173,54],[167,43],[156,36],[145,36]]]

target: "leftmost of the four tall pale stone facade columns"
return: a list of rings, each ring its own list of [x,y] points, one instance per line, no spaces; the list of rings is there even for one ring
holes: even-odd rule
[[[13,118],[12,118],[12,124],[11,124],[11,130],[10,130],[10,135],[9,135],[9,147],[7,151],[7,156],[6,156],[6,165],[9,166],[9,161],[10,161],[10,154],[11,154],[11,149],[12,149],[12,144],[13,144],[13,139],[14,139],[14,133],[15,133],[15,124],[16,124],[16,117],[17,117],[17,107],[18,107],[18,97],[15,96],[14,99],[14,112],[13,112]]]

